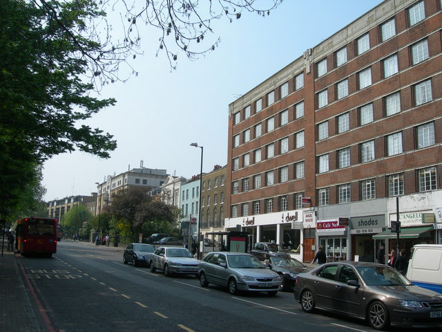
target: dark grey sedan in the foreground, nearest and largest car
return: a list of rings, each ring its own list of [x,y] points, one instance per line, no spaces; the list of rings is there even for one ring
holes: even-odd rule
[[[373,329],[386,329],[390,324],[442,327],[442,295],[412,284],[384,264],[323,264],[298,275],[294,295],[307,313],[320,308],[358,317]]]

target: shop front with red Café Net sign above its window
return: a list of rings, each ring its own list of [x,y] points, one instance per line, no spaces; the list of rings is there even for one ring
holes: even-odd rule
[[[321,220],[316,222],[318,245],[323,247],[327,261],[347,260],[347,218]],[[318,248],[316,248],[318,250]]]

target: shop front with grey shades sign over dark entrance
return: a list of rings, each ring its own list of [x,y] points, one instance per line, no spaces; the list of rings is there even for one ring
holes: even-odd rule
[[[355,216],[350,218],[350,234],[352,236],[352,261],[375,261],[376,251],[373,236],[385,230],[385,215]]]

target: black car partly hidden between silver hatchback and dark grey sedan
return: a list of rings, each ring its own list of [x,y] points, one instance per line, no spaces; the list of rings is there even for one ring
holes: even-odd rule
[[[311,270],[297,259],[278,255],[270,255],[265,265],[282,277],[282,289],[294,288],[298,274]]]

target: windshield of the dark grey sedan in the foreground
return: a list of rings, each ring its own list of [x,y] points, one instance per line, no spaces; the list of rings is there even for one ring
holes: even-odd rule
[[[410,286],[410,281],[390,266],[357,266],[369,286]]]

